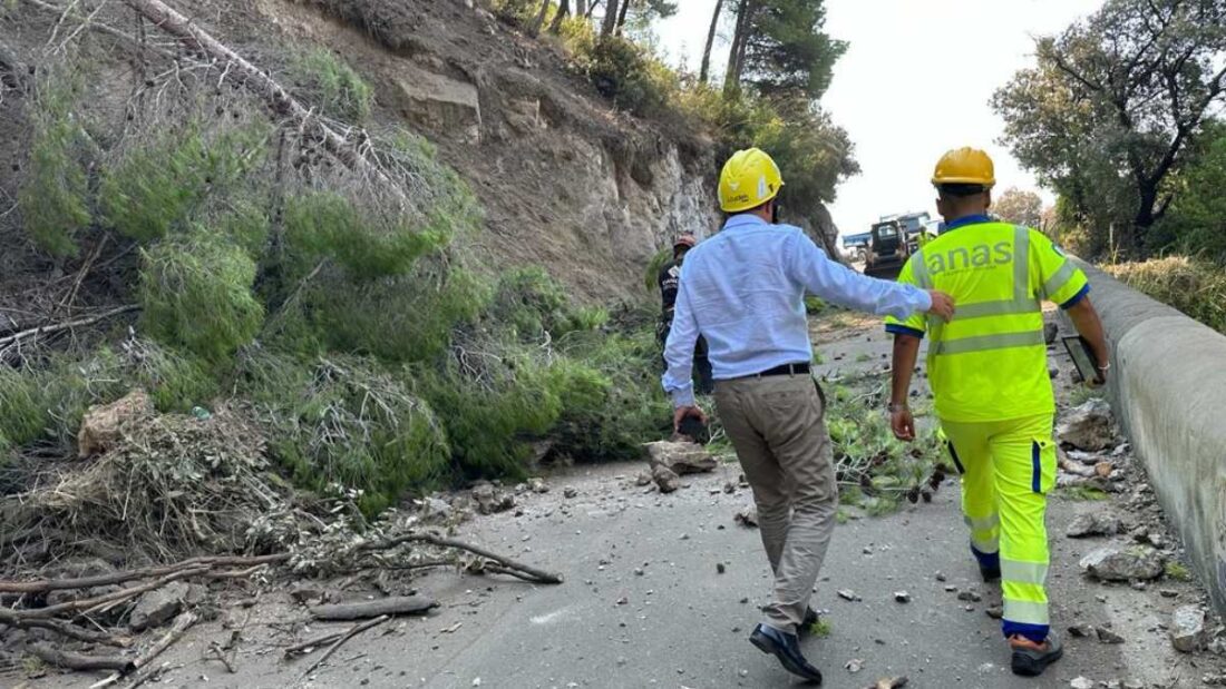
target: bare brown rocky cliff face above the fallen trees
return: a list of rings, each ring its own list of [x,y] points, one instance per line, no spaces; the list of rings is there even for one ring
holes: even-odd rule
[[[641,295],[674,235],[720,225],[712,146],[613,110],[548,43],[456,0],[260,0],[289,42],[320,43],[376,89],[380,117],[435,142],[487,210],[495,264],[537,263],[588,299]]]

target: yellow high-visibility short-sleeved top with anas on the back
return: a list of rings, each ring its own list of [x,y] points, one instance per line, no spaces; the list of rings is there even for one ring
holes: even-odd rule
[[[1004,421],[1054,414],[1041,300],[1068,308],[1090,285],[1043,234],[975,215],[912,255],[899,281],[953,295],[949,323],[915,315],[885,329],[929,338],[937,415]]]

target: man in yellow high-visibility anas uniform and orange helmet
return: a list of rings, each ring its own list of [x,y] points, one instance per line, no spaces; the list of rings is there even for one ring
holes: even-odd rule
[[[921,338],[946,449],[961,475],[971,552],[986,581],[1003,579],[1003,631],[1013,672],[1037,676],[1062,655],[1047,612],[1048,549],[1043,516],[1056,483],[1056,401],[1047,372],[1041,300],[1065,310],[1100,362],[1102,324],[1090,285],[1041,233],[992,220],[996,174],[982,151],[950,151],[932,180],[948,230],[902,268],[899,281],[946,291],[958,302],[948,323],[888,318],[894,333],[890,417],[894,434],[915,438],[907,409]]]

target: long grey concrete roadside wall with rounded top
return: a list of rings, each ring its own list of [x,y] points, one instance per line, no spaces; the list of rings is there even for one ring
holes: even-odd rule
[[[1111,340],[1116,415],[1226,613],[1226,335],[1081,268]]]

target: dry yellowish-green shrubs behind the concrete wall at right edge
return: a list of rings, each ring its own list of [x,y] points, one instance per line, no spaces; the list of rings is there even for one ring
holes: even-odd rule
[[[1107,266],[1106,270],[1149,296],[1226,333],[1226,273],[1183,256]]]

